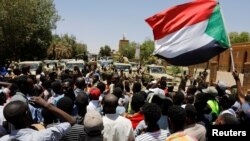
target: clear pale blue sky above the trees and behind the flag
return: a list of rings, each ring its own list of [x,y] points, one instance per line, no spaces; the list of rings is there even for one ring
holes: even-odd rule
[[[125,35],[130,42],[153,39],[145,19],[191,0],[54,0],[61,20],[53,33],[69,34],[87,44],[90,53],[101,46],[118,50]],[[250,32],[250,0],[219,0],[227,32]]]

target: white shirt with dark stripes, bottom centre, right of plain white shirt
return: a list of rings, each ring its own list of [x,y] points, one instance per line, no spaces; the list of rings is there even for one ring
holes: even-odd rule
[[[135,138],[135,141],[165,141],[170,135],[168,130],[159,130],[156,132],[146,132]]]

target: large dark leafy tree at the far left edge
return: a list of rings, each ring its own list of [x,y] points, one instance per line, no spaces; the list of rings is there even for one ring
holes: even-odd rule
[[[53,0],[1,0],[0,50],[10,60],[41,59],[60,19]]]

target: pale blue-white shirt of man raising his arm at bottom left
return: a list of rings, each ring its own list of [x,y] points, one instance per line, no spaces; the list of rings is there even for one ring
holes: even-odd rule
[[[61,137],[70,130],[70,128],[71,126],[68,122],[40,131],[24,128],[11,131],[11,134],[3,136],[0,140],[10,141],[16,139],[20,141],[59,141]]]

